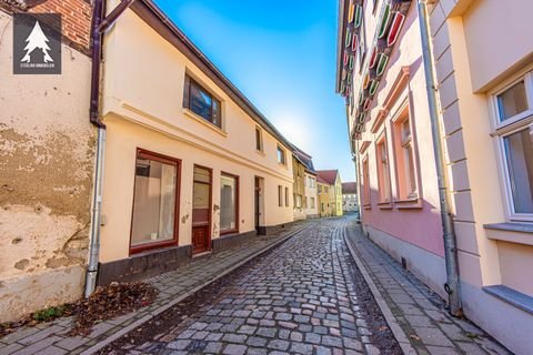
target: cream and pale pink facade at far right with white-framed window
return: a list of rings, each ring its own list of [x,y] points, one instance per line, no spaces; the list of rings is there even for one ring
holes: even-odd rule
[[[533,220],[514,211],[516,199],[531,197],[532,181],[514,180],[513,195],[509,154],[517,154],[515,163],[527,161],[522,154],[531,161],[531,141],[504,145],[514,132],[531,132],[532,12],[529,0],[441,0],[430,18],[463,311],[516,354],[533,348]],[[527,103],[503,120],[497,98],[521,82],[504,104]]]

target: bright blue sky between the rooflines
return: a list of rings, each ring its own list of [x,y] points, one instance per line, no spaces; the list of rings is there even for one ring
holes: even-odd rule
[[[315,169],[353,181],[335,93],[336,0],[155,2]]]

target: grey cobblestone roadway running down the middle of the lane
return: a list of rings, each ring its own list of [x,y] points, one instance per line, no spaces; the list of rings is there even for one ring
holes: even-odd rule
[[[342,225],[323,220],[296,234],[189,322],[129,353],[380,354],[351,278]],[[401,354],[393,342],[392,353]]]

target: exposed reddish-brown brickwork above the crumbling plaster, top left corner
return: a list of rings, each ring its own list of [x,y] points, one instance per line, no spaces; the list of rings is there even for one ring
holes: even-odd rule
[[[92,3],[93,0],[0,0],[0,9],[9,13],[61,13],[63,42],[89,54]]]

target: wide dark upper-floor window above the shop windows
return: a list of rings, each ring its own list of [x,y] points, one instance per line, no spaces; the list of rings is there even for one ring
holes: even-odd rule
[[[191,110],[205,121],[221,126],[220,100],[200,85],[194,79],[185,74],[183,91],[183,106]]]

